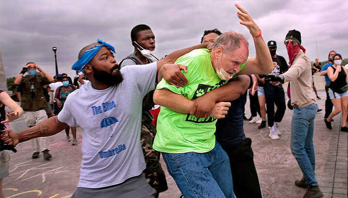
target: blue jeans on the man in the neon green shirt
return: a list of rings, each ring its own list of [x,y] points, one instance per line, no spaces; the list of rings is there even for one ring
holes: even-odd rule
[[[219,143],[210,152],[162,155],[185,198],[234,198],[229,157]]]

